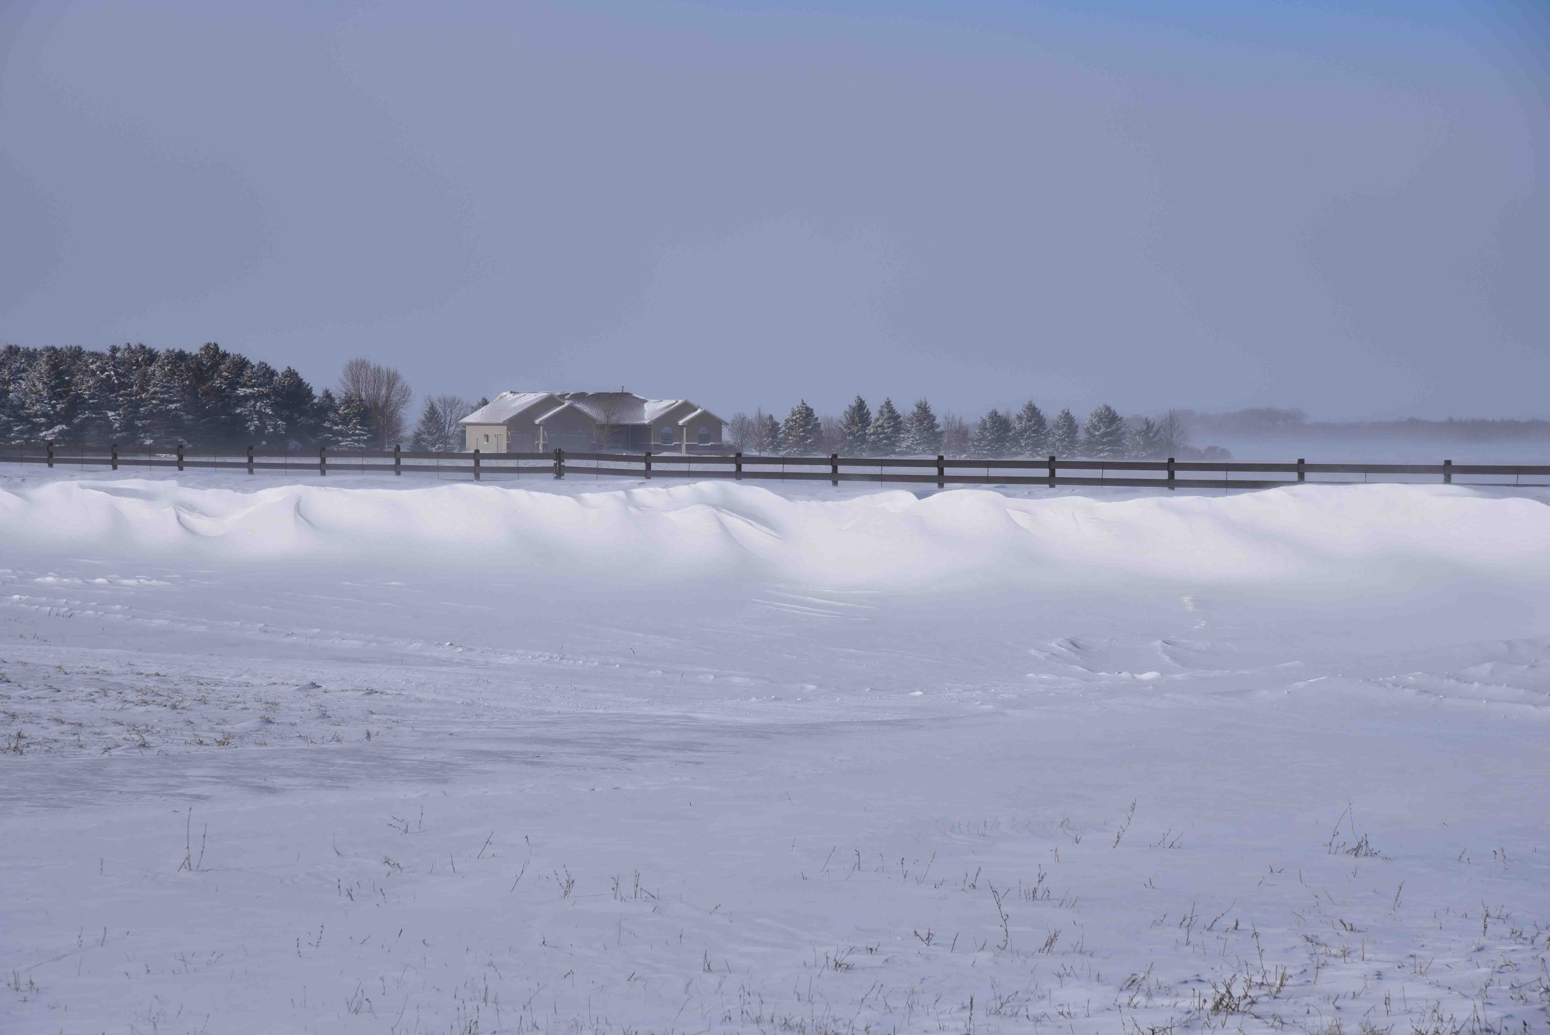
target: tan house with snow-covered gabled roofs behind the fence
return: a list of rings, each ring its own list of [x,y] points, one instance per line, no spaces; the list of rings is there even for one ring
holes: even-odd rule
[[[721,452],[725,421],[685,398],[501,392],[459,421],[473,452]]]

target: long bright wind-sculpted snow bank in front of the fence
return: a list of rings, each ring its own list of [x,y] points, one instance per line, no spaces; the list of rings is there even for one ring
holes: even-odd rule
[[[1136,579],[1393,587],[1448,575],[1550,575],[1550,507],[1412,485],[1130,500],[893,491],[812,502],[725,482],[578,496],[482,485],[239,493],[56,482],[0,491],[0,541],[217,567],[369,564],[894,590]]]

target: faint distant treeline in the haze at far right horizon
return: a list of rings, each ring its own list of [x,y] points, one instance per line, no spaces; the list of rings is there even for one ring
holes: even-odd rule
[[[1550,420],[1356,420],[1316,421],[1300,409],[1240,409],[1231,414],[1178,411],[1198,434],[1237,438],[1387,438],[1513,442],[1550,438]]]

